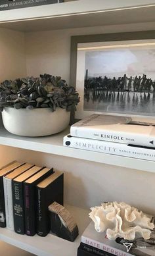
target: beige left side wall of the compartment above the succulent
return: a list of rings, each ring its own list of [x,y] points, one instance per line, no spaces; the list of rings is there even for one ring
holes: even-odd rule
[[[0,82],[26,76],[25,37],[22,32],[0,29]]]

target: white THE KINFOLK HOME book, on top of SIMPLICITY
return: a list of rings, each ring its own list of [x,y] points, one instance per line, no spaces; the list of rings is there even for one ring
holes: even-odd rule
[[[143,120],[143,119],[142,119]],[[70,128],[71,136],[155,147],[155,122],[133,121],[125,116],[93,114]]]

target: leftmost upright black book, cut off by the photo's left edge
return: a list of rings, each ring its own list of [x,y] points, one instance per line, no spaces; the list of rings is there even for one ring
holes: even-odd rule
[[[6,215],[5,215],[5,195],[4,195],[4,186],[3,186],[3,176],[12,172],[15,168],[22,165],[16,161],[9,163],[8,165],[3,166],[0,170],[0,227],[6,227]]]

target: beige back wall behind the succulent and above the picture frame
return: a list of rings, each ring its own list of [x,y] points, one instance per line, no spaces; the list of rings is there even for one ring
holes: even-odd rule
[[[70,36],[154,30],[154,22],[26,33],[27,74],[70,77]]]

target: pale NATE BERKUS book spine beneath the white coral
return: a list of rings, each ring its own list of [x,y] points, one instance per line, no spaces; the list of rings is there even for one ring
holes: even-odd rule
[[[119,256],[133,256],[130,253],[127,253],[125,251],[122,251],[120,249],[116,249],[114,247],[111,247],[110,245],[106,245],[105,243],[100,243],[98,241],[95,241],[91,238],[86,238],[85,236],[81,236],[81,243],[85,243],[87,245],[90,245],[92,247],[98,248],[101,251],[105,251],[107,253],[111,253],[113,255],[119,255]]]

